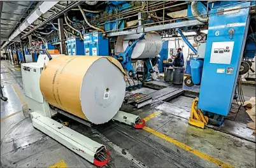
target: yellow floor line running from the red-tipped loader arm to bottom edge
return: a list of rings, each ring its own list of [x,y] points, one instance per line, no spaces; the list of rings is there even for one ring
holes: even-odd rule
[[[154,113],[153,113],[154,114]],[[152,114],[152,115],[153,115]],[[148,118],[152,118],[153,116],[152,115],[149,115],[147,116],[146,118],[144,118],[144,120],[149,120]],[[145,120],[145,121],[146,121]],[[153,129],[150,129],[149,127],[143,127],[144,130],[150,132],[151,134],[154,134],[155,136],[157,137],[160,137],[166,141],[168,141],[169,143],[173,143],[175,144],[176,146],[179,146],[180,148],[183,148],[184,150],[186,151],[189,151],[190,153],[193,153],[194,155],[197,155],[197,157],[201,157],[201,158],[204,158],[205,160],[208,160],[210,162],[212,162],[213,164],[217,164],[221,167],[232,167],[232,165],[229,165],[229,164],[225,164],[224,162],[218,160],[217,158],[214,158],[214,157],[211,157],[209,155],[206,155],[205,153],[201,152],[201,151],[198,151],[190,146],[187,146],[186,144],[183,144],[181,143],[180,141],[177,141],[171,137],[168,137],[160,132],[157,132],[157,130],[153,130]]]

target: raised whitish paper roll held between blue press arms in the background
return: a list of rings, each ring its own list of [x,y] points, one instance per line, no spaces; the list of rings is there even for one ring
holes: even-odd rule
[[[117,45],[115,47],[115,54],[123,53],[129,41],[138,39],[142,34],[129,34],[125,36],[118,36]],[[157,56],[162,50],[162,38],[157,32],[148,32],[144,38],[139,40],[134,46],[132,52],[132,59],[147,59]]]

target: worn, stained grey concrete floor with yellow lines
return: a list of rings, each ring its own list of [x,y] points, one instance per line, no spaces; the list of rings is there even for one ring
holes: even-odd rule
[[[32,127],[22,113],[25,101],[20,69],[6,60],[1,60],[1,85],[8,97],[7,102],[1,101],[1,167],[48,167],[61,160],[67,167],[95,167]],[[255,96],[254,87],[246,86],[244,91],[248,97]],[[253,143],[188,125],[191,100],[180,96],[141,109],[122,106],[122,111],[141,118],[158,112],[146,122],[148,129],[136,130],[117,122],[89,128],[72,120],[71,129],[106,145],[111,153],[106,167],[255,167],[255,137]]]

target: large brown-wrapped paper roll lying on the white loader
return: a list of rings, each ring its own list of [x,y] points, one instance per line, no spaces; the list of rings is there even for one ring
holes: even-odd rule
[[[43,69],[39,85],[49,104],[100,124],[111,120],[122,105],[124,75],[113,57],[59,56]]]

